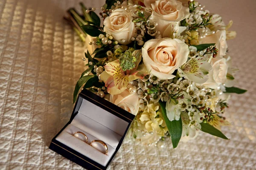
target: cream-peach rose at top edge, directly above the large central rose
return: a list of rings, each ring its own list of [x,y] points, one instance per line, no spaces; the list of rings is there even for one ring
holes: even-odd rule
[[[189,8],[178,0],[144,0],[144,4],[153,10],[151,16],[158,23],[157,31],[162,37],[170,37],[177,22],[189,17]]]

